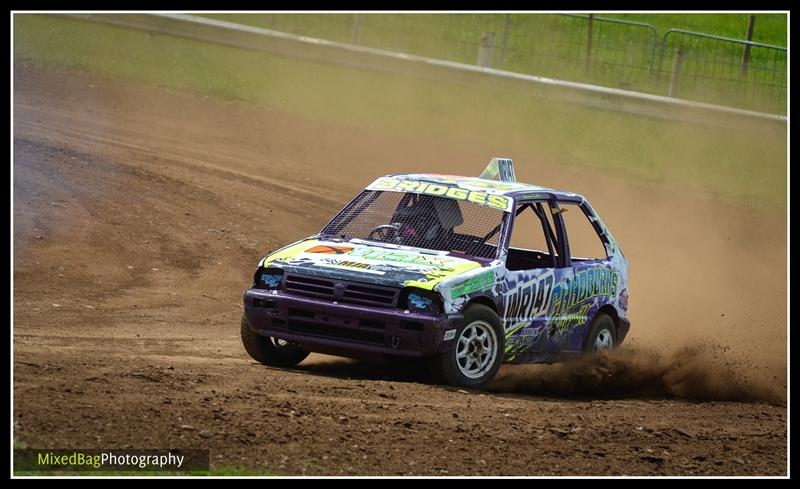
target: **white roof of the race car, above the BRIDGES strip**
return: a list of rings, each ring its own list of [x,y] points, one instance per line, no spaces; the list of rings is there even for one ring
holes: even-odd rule
[[[489,180],[486,178],[465,177],[461,175],[443,175],[437,173],[396,173],[386,175],[379,178],[374,183],[383,178],[392,178],[396,180],[417,180],[424,182],[440,183],[445,185],[456,185],[460,188],[475,189],[479,187],[486,192],[505,195],[514,199],[537,198],[533,194],[545,193],[550,194],[558,199],[565,200],[583,200],[583,196],[574,192],[565,192],[562,190],[555,190],[548,187],[539,185],[532,185],[523,182],[507,182],[500,180]],[[530,195],[530,197],[528,197]]]

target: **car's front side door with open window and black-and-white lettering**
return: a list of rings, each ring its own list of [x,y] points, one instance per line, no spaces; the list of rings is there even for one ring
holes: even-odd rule
[[[548,336],[555,319],[552,303],[559,284],[569,283],[573,271],[563,229],[553,219],[554,204],[522,201],[514,212],[502,281],[508,362],[543,361],[558,352]]]

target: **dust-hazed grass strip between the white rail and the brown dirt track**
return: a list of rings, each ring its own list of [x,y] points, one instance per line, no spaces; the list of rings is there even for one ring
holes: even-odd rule
[[[243,100],[333,124],[480,143],[505,154],[786,203],[786,130],[717,128],[587,109],[491,80],[432,81],[237,50],[54,16],[14,17],[16,61],[53,63]],[[521,175],[524,176],[524,175]]]

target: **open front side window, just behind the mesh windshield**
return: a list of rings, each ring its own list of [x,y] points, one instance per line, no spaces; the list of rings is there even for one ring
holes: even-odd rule
[[[511,230],[506,268],[530,270],[555,268],[556,247],[546,234],[546,204],[520,204],[516,209],[514,228]]]

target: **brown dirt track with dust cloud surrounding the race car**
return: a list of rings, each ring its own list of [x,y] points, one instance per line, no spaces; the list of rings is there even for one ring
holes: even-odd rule
[[[26,65],[14,97],[19,442],[207,447],[275,474],[786,473],[785,216],[545,170],[592,197],[632,264],[625,348],[504,368],[486,393],[324,356],[276,370],[238,337],[258,259],[377,175],[477,173],[487,148]]]

